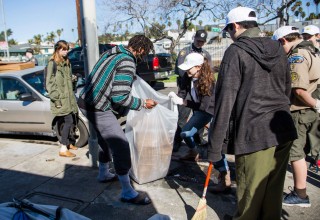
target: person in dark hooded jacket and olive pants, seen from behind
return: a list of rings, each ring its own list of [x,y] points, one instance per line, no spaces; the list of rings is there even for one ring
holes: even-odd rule
[[[235,155],[237,209],[234,219],[280,219],[292,141],[291,90],[286,54],[260,37],[256,12],[232,9],[224,31],[234,43],[225,51],[216,83],[208,160]]]

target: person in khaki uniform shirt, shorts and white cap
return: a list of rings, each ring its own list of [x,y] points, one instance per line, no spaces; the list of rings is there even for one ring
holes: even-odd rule
[[[290,150],[294,189],[283,198],[283,205],[310,207],[307,195],[307,165],[304,148],[307,134],[316,123],[320,112],[320,100],[311,94],[316,90],[320,78],[320,57],[312,42],[303,41],[297,28],[283,26],[273,35],[287,53],[292,79],[290,111],[298,132],[298,139]]]

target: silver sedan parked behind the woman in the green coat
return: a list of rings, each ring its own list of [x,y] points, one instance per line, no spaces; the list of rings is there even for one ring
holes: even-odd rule
[[[0,73],[0,132],[42,134],[61,139],[63,123],[50,111],[44,89],[44,66]],[[83,147],[89,138],[88,121],[79,112],[75,145]]]

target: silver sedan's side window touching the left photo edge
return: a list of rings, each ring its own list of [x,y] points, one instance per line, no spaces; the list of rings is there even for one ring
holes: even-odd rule
[[[22,93],[27,93],[28,89],[17,79],[0,78],[0,99],[19,100]]]

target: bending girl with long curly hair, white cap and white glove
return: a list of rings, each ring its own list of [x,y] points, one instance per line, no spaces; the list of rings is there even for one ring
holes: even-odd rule
[[[187,155],[181,157],[181,160],[197,161],[199,153],[196,149],[194,135],[208,124],[213,116],[214,109],[214,74],[206,60],[200,53],[190,53],[186,56],[184,62],[178,66],[179,69],[186,71],[183,78],[183,84],[180,87],[178,95],[174,92],[169,93],[172,101],[180,106],[186,106],[193,109],[192,117],[182,127],[179,134],[190,148]],[[183,99],[190,95],[191,100]]]

